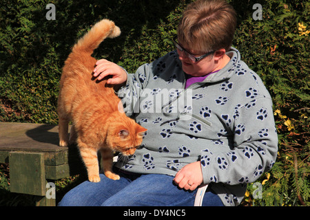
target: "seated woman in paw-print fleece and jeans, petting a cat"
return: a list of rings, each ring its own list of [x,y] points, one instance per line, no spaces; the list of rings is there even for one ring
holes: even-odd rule
[[[118,157],[121,179],[85,181],[59,205],[193,206],[209,184],[203,206],[238,206],[273,166],[278,138],[267,89],[231,47],[235,29],[228,3],[198,0],[180,19],[176,51],[135,74],[98,61],[94,76],[123,85],[125,111],[147,135],[130,159]]]

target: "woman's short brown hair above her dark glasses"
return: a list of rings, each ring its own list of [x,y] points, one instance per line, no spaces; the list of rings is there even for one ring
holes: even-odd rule
[[[178,41],[201,54],[231,47],[236,30],[236,12],[225,0],[190,3],[178,24]]]

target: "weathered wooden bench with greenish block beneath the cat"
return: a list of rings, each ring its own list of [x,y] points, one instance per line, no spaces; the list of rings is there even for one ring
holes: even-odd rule
[[[48,182],[85,173],[76,146],[61,147],[58,126],[0,122],[0,163],[10,164],[10,191],[35,195],[37,206],[55,206]]]

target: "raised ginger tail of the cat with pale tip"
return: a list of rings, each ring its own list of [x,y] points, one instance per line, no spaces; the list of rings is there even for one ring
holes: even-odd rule
[[[94,50],[99,47],[100,43],[106,38],[114,38],[121,34],[121,30],[113,21],[103,19],[96,23],[87,34],[85,34],[74,45],[72,52],[87,53],[92,55]]]

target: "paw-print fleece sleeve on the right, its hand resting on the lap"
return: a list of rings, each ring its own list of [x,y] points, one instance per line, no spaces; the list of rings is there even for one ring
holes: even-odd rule
[[[231,126],[230,151],[216,153],[205,150],[200,157],[205,184],[247,184],[270,170],[276,161],[278,137],[270,98],[257,98],[239,107],[238,118]]]

